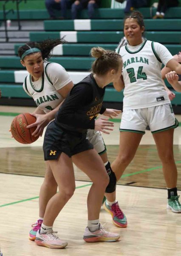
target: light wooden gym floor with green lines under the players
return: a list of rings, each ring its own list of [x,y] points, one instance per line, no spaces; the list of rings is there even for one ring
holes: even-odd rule
[[[23,145],[11,138],[8,129],[13,113],[31,113],[33,109],[0,106],[0,247],[3,255],[180,256],[181,214],[166,209],[166,186],[150,131],[146,131],[134,160],[117,186],[117,199],[127,216],[128,227],[117,228],[104,209],[100,213],[101,223],[120,233],[120,241],[95,244],[83,241],[87,224],[86,197],[91,183],[76,167],[76,192],[54,224],[59,237],[68,241],[68,247],[51,250],[29,241],[31,224],[38,218],[38,195],[45,169],[43,138]],[[181,116],[177,118],[181,122]],[[103,137],[112,162],[119,150],[119,122],[115,122],[110,135],[103,134]],[[181,190],[181,127],[175,129],[174,154]]]

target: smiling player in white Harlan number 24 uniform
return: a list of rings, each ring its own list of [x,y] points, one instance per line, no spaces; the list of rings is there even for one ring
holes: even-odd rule
[[[143,34],[143,16],[140,12],[133,12],[124,20],[124,35],[128,44],[119,51],[123,59],[123,72],[119,82],[114,83],[116,90],[124,88],[124,99],[119,155],[111,166],[119,180],[149,125],[167,184],[167,208],[172,212],[181,212],[177,195],[177,168],[173,157],[173,133],[178,121],[161,79],[161,64],[177,74],[181,74],[181,65],[163,45],[143,40]]]

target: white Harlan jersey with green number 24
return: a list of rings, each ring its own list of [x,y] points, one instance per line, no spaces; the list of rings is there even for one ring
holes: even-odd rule
[[[139,46],[123,46],[119,54],[123,59],[123,110],[148,108],[169,104],[161,79],[161,63],[173,56],[162,44],[145,40]]]

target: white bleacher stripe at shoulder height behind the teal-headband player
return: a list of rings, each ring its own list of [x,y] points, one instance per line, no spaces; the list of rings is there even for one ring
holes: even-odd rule
[[[76,84],[84,79],[86,76],[88,76],[90,72],[68,71],[68,74],[70,75],[73,83]],[[14,71],[15,83],[23,83],[26,76],[28,76],[28,72],[26,70]]]

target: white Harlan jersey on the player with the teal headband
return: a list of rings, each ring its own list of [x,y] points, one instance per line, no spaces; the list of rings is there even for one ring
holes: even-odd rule
[[[23,89],[34,99],[37,107],[48,113],[64,99],[57,90],[71,82],[71,78],[60,64],[44,62],[43,65],[43,76],[37,81],[32,81],[31,75],[27,76],[23,83]]]

